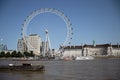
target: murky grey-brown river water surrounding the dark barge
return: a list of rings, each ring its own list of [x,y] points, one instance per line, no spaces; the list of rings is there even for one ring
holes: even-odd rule
[[[40,71],[0,71],[0,80],[120,80],[120,59],[81,61],[12,61],[0,60],[0,65],[9,63],[32,63],[45,65]]]

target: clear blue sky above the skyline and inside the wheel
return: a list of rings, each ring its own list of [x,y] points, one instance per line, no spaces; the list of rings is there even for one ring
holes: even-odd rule
[[[73,45],[120,43],[119,0],[0,0],[0,38],[8,49],[17,49],[24,20],[39,8],[55,8],[64,12],[73,27]],[[28,25],[27,35],[37,33],[45,40],[48,29],[52,48],[62,44],[67,27],[51,13],[39,14]]]

